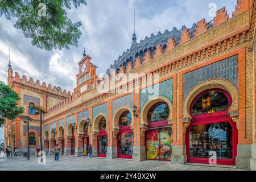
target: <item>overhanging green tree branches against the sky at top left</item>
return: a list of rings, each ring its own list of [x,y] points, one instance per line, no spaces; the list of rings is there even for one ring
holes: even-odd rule
[[[17,18],[14,27],[23,31],[32,45],[52,50],[77,46],[81,36],[81,22],[72,23],[67,9],[72,4],[77,7],[86,5],[85,0],[1,0],[0,16],[7,19]]]

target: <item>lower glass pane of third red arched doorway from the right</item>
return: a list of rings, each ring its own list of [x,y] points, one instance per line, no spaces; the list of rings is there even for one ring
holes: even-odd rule
[[[133,132],[121,133],[118,135],[118,154],[119,155],[133,154]]]

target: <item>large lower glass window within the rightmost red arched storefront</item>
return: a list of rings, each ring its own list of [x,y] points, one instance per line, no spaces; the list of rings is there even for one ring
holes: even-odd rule
[[[217,159],[232,159],[232,127],[229,122],[192,126],[189,132],[191,158],[210,158],[215,151]]]

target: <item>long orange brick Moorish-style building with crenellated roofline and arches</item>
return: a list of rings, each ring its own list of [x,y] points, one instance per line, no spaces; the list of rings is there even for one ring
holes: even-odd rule
[[[38,145],[39,118],[28,108],[34,104],[48,111],[48,154],[59,143],[63,155],[83,156],[90,143],[93,156],[109,159],[209,163],[214,151],[217,164],[256,169],[255,8],[253,0],[238,0],[232,18],[223,7],[211,22],[139,43],[134,34],[109,77],[99,78],[84,53],[72,94],[13,75],[10,66],[8,84],[34,118],[31,137]],[[6,121],[5,143],[26,151],[24,126]]]

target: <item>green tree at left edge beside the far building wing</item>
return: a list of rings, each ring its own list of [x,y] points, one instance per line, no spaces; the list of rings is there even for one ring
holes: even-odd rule
[[[17,106],[19,100],[18,93],[0,81],[0,127],[6,118],[14,120],[19,114],[24,113],[24,108]]]

